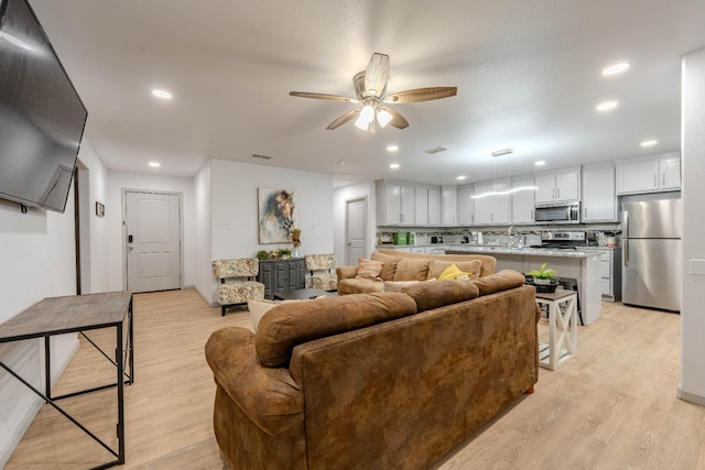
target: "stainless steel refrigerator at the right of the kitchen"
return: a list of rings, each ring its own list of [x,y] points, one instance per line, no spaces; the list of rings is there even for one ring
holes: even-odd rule
[[[681,311],[681,199],[625,203],[623,304]]]

